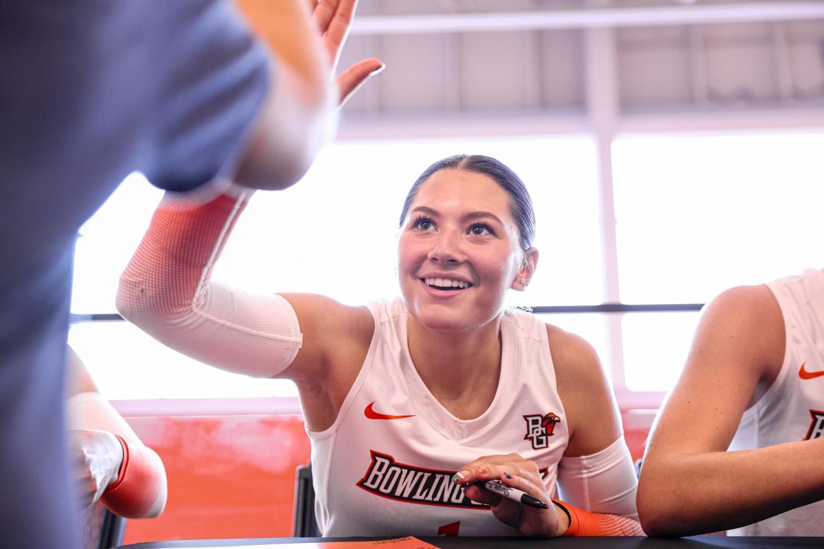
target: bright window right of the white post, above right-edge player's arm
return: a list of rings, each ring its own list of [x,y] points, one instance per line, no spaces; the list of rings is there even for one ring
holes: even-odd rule
[[[705,303],[821,268],[824,134],[627,137],[613,144],[620,297]],[[626,314],[626,387],[667,391],[698,314]]]

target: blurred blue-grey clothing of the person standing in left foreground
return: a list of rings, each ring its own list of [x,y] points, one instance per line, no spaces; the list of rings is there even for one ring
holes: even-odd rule
[[[0,0],[2,547],[79,547],[63,426],[77,228],[133,171],[184,191],[232,170],[269,70],[228,2]]]

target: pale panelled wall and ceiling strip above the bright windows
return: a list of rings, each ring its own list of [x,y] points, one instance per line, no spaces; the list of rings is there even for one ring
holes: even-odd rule
[[[361,0],[341,137],[824,128],[824,2]]]

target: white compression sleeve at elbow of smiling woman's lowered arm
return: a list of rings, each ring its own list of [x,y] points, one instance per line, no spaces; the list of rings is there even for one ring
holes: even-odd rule
[[[558,484],[560,499],[576,507],[638,519],[638,477],[623,436],[596,454],[561,458]]]

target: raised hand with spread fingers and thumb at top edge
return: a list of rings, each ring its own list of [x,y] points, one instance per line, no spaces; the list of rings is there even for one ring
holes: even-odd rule
[[[321,30],[326,52],[334,75],[340,58],[340,50],[343,49],[346,37],[349,35],[349,28],[352,26],[352,19],[355,14],[358,0],[310,0],[312,4],[312,17]],[[355,91],[372,76],[383,70],[384,64],[377,58],[368,58],[354,63],[351,67],[341,72],[336,81],[338,84],[340,102],[343,106]]]

